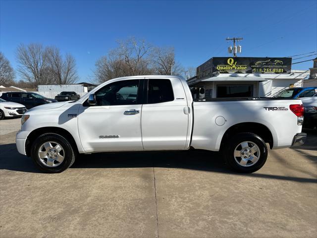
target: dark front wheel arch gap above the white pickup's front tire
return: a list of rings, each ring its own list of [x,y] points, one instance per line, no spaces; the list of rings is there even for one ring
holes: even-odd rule
[[[37,128],[28,135],[25,142],[25,152],[27,156],[31,155],[31,147],[33,142],[36,140],[36,138],[38,138],[40,135],[45,133],[55,133],[55,134],[63,136],[69,141],[69,143],[78,153],[78,147],[77,147],[76,141],[74,137],[71,135],[71,133],[69,133],[66,129],[63,129],[60,127],[49,126],[49,127]]]

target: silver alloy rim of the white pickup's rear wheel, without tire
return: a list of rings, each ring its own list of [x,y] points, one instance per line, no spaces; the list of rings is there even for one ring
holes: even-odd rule
[[[234,159],[243,167],[253,166],[260,158],[260,148],[257,144],[251,141],[241,142],[234,149]]]

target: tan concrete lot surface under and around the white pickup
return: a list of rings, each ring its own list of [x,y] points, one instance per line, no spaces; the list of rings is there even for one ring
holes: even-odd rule
[[[250,175],[206,151],[86,155],[48,175],[16,151],[18,123],[0,122],[1,238],[317,237],[316,131]]]

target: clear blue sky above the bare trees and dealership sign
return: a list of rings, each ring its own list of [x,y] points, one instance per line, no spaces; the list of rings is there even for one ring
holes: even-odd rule
[[[317,0],[0,0],[0,51],[14,68],[20,43],[54,45],[75,57],[79,81],[89,81],[96,60],[130,36],[173,46],[184,66],[229,56],[226,37],[244,37],[241,57],[293,56],[317,51]]]

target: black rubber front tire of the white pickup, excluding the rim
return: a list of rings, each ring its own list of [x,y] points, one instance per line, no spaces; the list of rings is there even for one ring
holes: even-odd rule
[[[63,161],[55,167],[48,167],[43,162],[41,162],[41,159],[39,157],[38,152],[39,152],[40,146],[48,141],[52,141],[52,142],[56,142],[60,144],[64,151]],[[77,150],[72,147],[72,145],[68,142],[68,140],[65,137],[55,133],[45,133],[40,135],[33,142],[32,149],[31,149],[31,157],[35,165],[41,171],[45,173],[50,173],[50,174],[61,173],[64,170],[68,169],[75,162],[76,156],[77,156]]]

